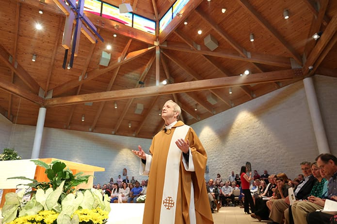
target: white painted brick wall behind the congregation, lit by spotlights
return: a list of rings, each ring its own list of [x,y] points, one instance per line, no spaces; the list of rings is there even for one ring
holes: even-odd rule
[[[337,154],[337,79],[317,75],[314,78],[323,122],[332,153]],[[0,116],[1,117],[1,116]],[[289,178],[301,173],[299,163],[313,161],[318,155],[303,82],[261,96],[192,125],[208,153],[209,174],[227,178],[234,170],[239,173],[246,161],[261,174],[285,172]],[[11,127],[0,119],[0,146],[8,145]],[[29,159],[32,154],[35,127],[16,125],[11,136],[15,149]],[[3,136],[4,137],[3,137]],[[139,160],[131,153],[142,145],[149,148],[151,140],[108,134],[45,128],[41,158],[60,158],[105,167],[97,172],[95,183],[116,180],[127,168],[128,176],[139,175]]]

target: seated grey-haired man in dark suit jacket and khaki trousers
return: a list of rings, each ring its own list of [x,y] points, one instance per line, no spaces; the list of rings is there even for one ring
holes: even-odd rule
[[[305,177],[304,181],[297,185],[294,190],[294,194],[297,200],[307,199],[312,187],[315,184],[316,179],[311,174],[310,162],[302,162],[301,170]],[[286,218],[285,223],[289,224],[289,196],[284,199],[275,200],[270,211],[269,218],[273,220],[273,223],[283,223],[283,215]],[[291,215],[292,217],[292,215]]]

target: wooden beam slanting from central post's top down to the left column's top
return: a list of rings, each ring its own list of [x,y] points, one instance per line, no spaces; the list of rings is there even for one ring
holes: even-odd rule
[[[103,75],[103,74],[111,71],[112,69],[117,68],[118,66],[126,64],[129,61],[132,61],[132,60],[148,53],[152,49],[154,49],[154,47],[149,47],[149,48],[146,48],[146,49],[130,52],[130,53],[128,53],[127,58],[124,59],[124,60],[117,59],[117,60],[111,61],[110,65],[106,68],[103,68],[103,69],[98,68],[98,69],[94,69],[94,70],[88,72],[87,77],[85,79],[82,78],[79,81],[78,78],[75,78],[73,80],[70,80],[70,81],[62,84],[62,85],[59,85],[59,86],[57,86],[53,89],[53,96],[60,95],[61,93],[64,93],[67,90],[71,90],[71,89],[79,86],[80,84],[86,83],[86,82],[88,82],[88,81],[90,81],[90,80],[92,80],[92,79],[94,79],[94,78],[96,78],[100,75]],[[83,75],[83,77],[84,77],[84,75]]]

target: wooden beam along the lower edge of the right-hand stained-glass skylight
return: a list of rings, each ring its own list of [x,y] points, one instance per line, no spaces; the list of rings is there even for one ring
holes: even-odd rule
[[[168,36],[177,29],[177,27],[185,21],[185,19],[196,9],[203,0],[189,0],[187,4],[180,10],[181,16],[173,15],[171,22],[159,34],[159,43],[163,43]]]

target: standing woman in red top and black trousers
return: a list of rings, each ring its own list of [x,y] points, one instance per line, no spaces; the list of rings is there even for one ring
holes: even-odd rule
[[[248,177],[246,171],[247,171],[246,166],[241,166],[240,177],[241,177],[241,188],[244,194],[244,213],[250,214],[249,205],[250,209],[252,210],[252,213],[255,212],[253,198],[249,190],[250,181],[254,178],[252,178],[252,172],[249,172]]]

